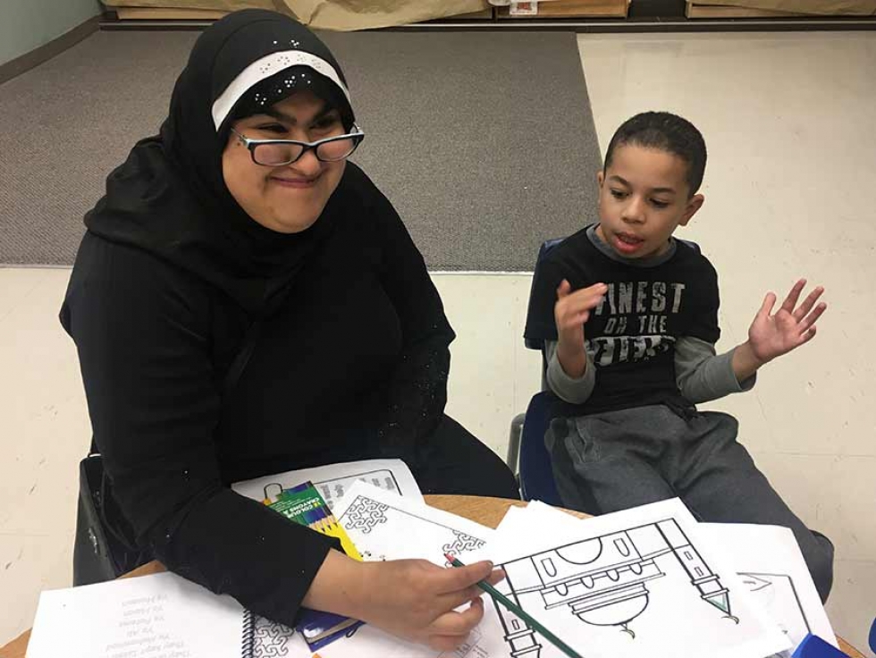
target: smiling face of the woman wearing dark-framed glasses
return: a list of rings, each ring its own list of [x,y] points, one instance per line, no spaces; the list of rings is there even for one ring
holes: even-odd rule
[[[292,94],[264,114],[233,123],[232,128],[248,139],[312,142],[344,134],[338,111],[327,109],[310,91]],[[257,165],[233,132],[222,156],[223,177],[232,197],[258,224],[281,233],[301,232],[316,222],[345,165],[345,160],[320,162],[312,149],[291,165]]]

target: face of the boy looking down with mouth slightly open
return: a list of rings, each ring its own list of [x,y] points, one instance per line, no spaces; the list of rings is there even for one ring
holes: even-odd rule
[[[669,249],[678,226],[685,226],[703,205],[703,195],[689,197],[687,164],[655,148],[627,144],[616,148],[599,182],[596,234],[619,256],[644,258]]]

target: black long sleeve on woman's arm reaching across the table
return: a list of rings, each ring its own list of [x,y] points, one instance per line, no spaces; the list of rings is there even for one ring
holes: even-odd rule
[[[223,485],[206,287],[87,235],[62,318],[114,495],[158,560],[291,624],[333,540]]]

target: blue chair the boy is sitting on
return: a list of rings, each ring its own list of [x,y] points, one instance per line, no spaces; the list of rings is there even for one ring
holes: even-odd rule
[[[543,258],[563,240],[565,238],[545,240],[538,249],[533,283],[535,283],[535,277],[538,275]],[[699,245],[695,242],[679,241],[685,242],[697,252],[700,251]],[[530,288],[529,295],[532,296],[532,288]],[[539,500],[550,505],[562,505],[560,493],[557,492],[557,485],[553,478],[551,454],[544,447],[544,434],[551,422],[550,402],[552,399],[556,399],[548,389],[544,343],[525,339],[525,344],[530,350],[542,352],[542,392],[536,393],[529,401],[529,407],[525,414],[518,414],[511,421],[506,463],[511,470],[517,470],[519,467],[518,481],[523,500]]]

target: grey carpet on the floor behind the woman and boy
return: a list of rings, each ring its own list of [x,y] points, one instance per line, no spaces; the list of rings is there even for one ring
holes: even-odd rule
[[[195,32],[97,32],[0,86],[0,264],[71,265],[82,215],[154,134]],[[593,116],[571,33],[324,35],[366,141],[355,160],[431,270],[530,271],[595,207]]]

